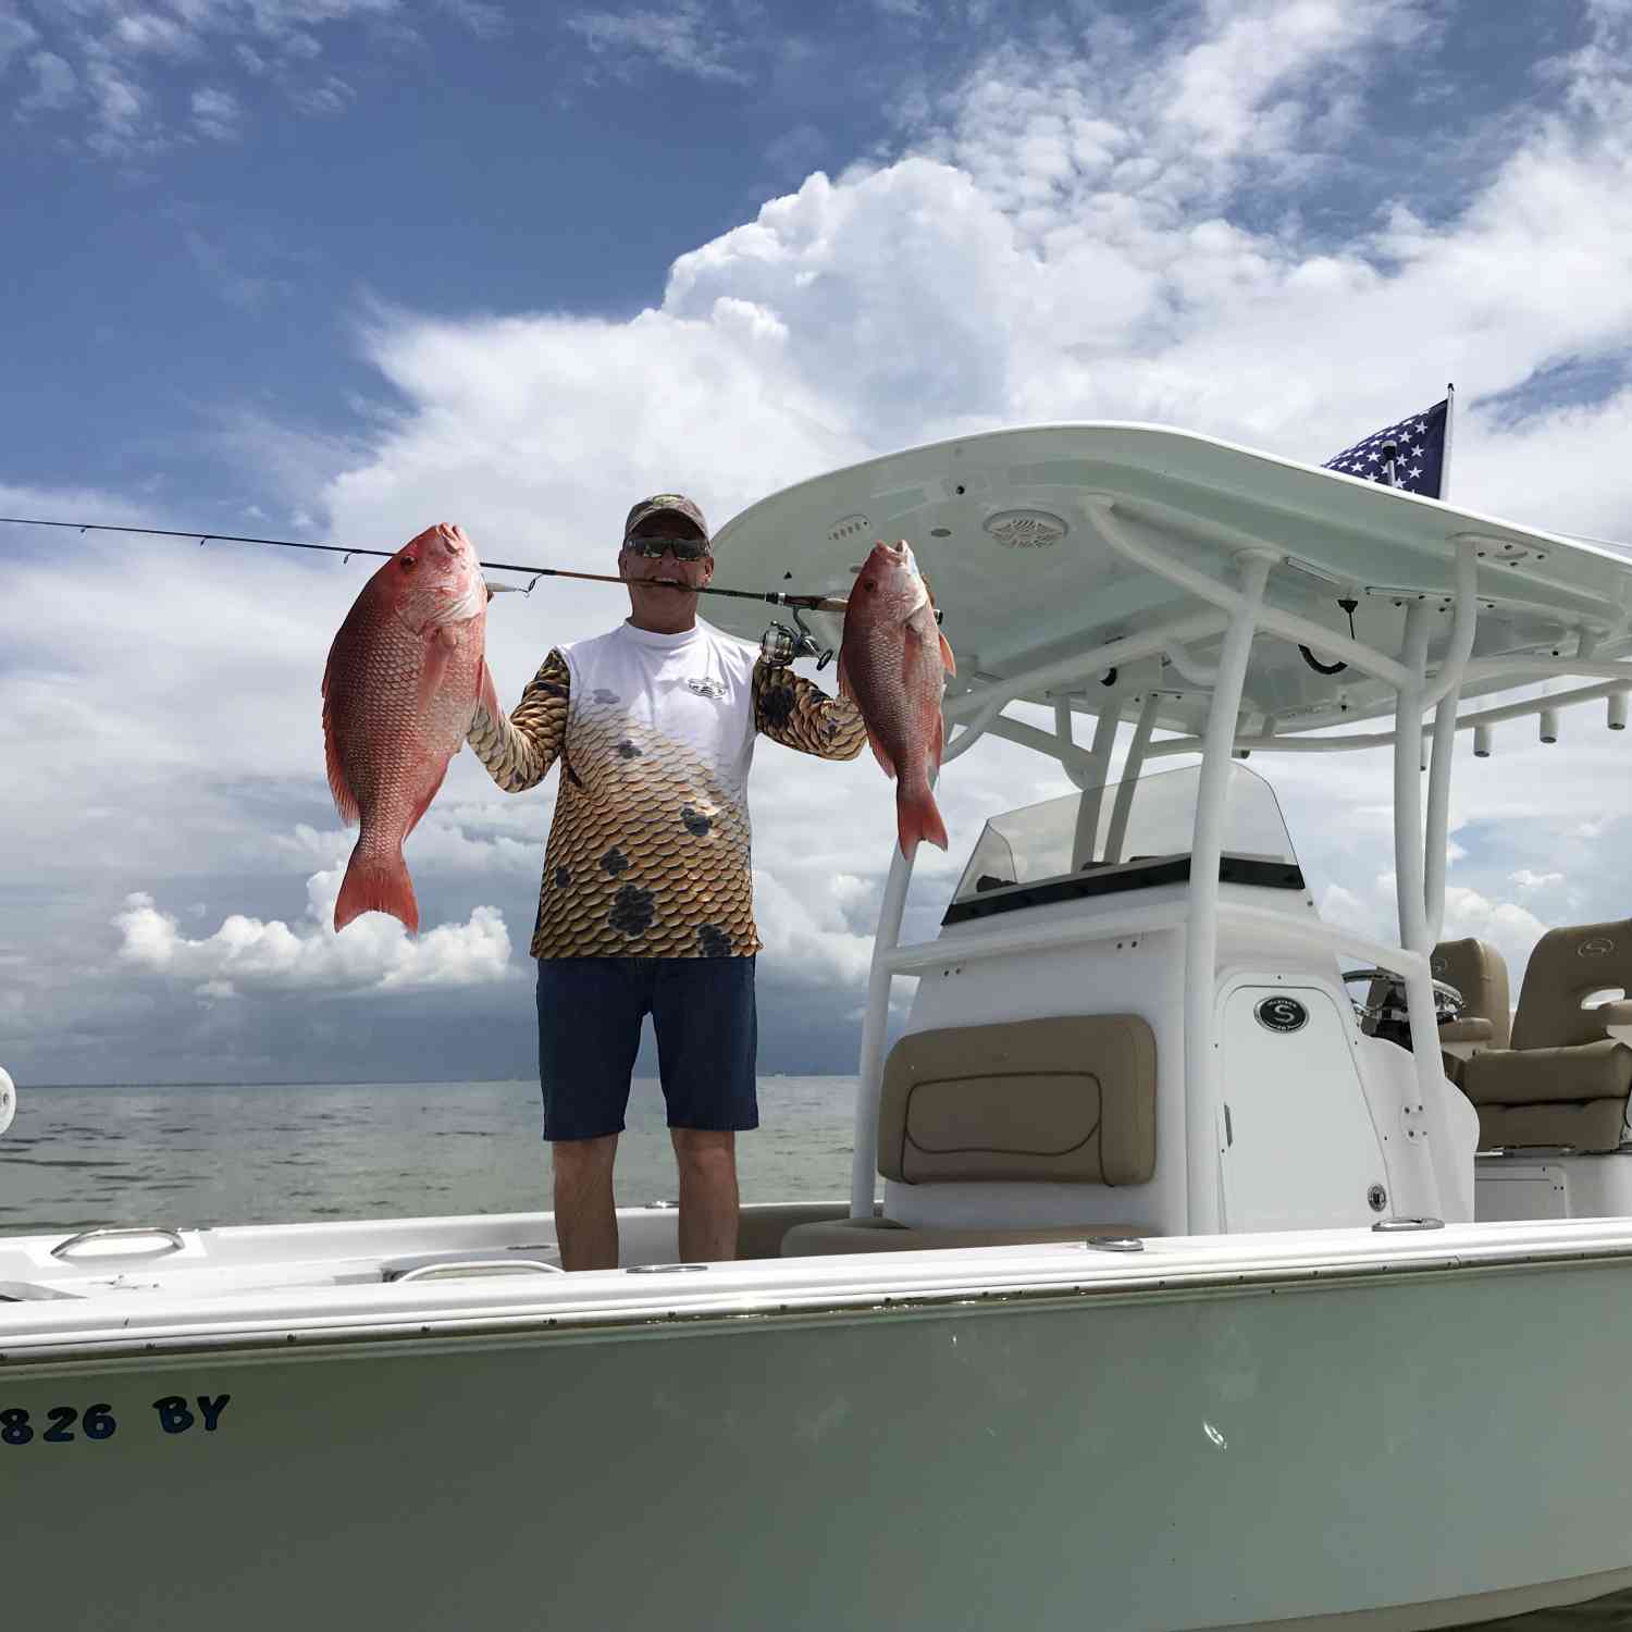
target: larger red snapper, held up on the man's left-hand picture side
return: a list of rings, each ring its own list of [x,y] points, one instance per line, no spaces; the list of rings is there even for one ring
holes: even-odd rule
[[[362,832],[335,902],[336,930],[361,912],[419,929],[403,840],[436,798],[477,703],[499,715],[486,622],[475,547],[437,524],[364,584],[339,625],[323,671],[323,746],[341,821],[361,821]]]

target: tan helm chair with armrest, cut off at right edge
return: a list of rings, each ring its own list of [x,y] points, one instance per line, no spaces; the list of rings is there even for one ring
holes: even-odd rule
[[[1583,1007],[1632,987],[1632,919],[1549,930],[1536,943],[1513,1036],[1462,1061],[1461,1087],[1479,1110],[1480,1149],[1575,1146],[1614,1151],[1625,1139],[1632,1002]]]

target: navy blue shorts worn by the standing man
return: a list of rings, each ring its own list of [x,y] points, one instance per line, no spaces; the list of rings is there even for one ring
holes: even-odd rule
[[[545,1139],[623,1131],[646,1015],[671,1128],[759,1126],[752,958],[540,958]]]

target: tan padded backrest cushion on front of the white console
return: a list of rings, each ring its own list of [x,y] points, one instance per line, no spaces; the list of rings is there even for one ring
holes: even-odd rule
[[[904,1036],[885,1066],[878,1170],[906,1185],[1142,1185],[1155,1035],[1138,1015],[1058,1015]]]

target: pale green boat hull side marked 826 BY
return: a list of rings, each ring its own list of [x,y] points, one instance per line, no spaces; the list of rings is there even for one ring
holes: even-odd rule
[[[1632,1580],[1629,1276],[7,1364],[8,1598],[165,1632],[1466,1624]]]

